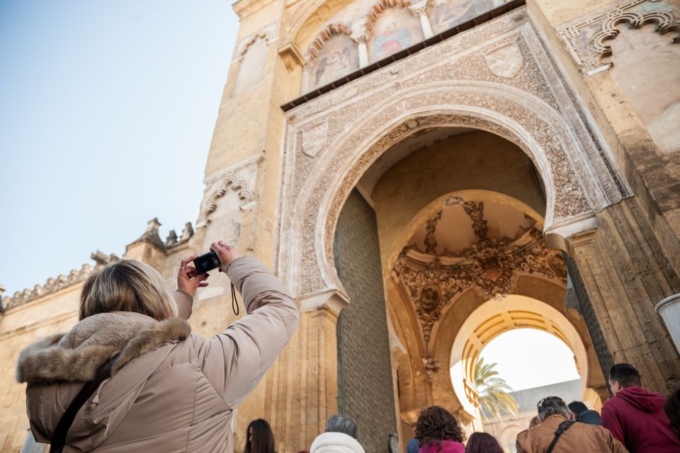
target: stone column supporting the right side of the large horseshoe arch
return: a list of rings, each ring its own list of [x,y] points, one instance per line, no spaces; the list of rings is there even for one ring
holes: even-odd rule
[[[644,386],[669,394],[680,383],[680,357],[655,303],[678,292],[680,278],[635,200],[610,206],[596,219],[596,229],[567,238],[594,317],[587,323],[599,326],[611,362],[634,365]]]

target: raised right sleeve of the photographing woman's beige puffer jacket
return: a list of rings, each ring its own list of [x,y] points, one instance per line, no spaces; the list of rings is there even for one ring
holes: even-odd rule
[[[246,316],[226,331],[199,341],[203,374],[230,408],[235,408],[263,377],[297,327],[297,306],[276,277],[255,258],[234,260],[229,280],[242,294]]]

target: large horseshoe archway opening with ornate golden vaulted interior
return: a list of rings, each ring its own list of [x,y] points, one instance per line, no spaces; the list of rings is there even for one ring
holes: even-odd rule
[[[469,128],[414,134],[364,173],[335,231],[336,270],[351,300],[338,320],[342,411],[361,418],[361,404],[352,400],[373,392],[380,407],[391,399],[402,441],[431,404],[480,429],[472,364],[485,342],[520,326],[570,345],[584,391],[591,381],[604,382],[583,319],[564,306],[567,267],[543,239],[545,196],[538,171],[516,144]],[[372,317],[385,306],[387,319]],[[370,352],[365,344],[373,345]],[[385,347],[391,379],[386,361],[375,357]],[[382,371],[370,372],[365,386],[352,370],[370,355],[373,369]],[[452,381],[446,370],[456,364],[463,379]],[[385,391],[390,380],[392,391]]]

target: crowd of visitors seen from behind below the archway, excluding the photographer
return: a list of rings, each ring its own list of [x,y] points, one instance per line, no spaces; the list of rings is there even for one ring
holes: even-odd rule
[[[537,412],[527,430],[516,440],[518,453],[677,453],[680,452],[680,389],[669,398],[647,391],[632,365],[614,365],[609,374],[614,394],[602,407],[601,415],[582,401],[567,404],[559,396],[538,401]],[[266,429],[255,430],[256,425]],[[262,438],[254,440],[256,433]],[[244,453],[276,453],[273,434],[264,420],[248,427]],[[262,445],[253,449],[251,445]],[[386,448],[387,449],[387,448]],[[387,449],[392,453],[391,449]],[[455,416],[440,406],[421,411],[414,425],[414,438],[407,453],[504,453],[499,442],[487,432],[467,437]],[[395,450],[396,451],[396,450]],[[329,418],[309,452],[364,453],[355,420],[346,415]]]

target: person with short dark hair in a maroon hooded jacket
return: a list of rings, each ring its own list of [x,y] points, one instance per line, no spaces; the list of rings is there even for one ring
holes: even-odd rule
[[[602,426],[630,453],[680,452],[680,440],[664,413],[664,396],[643,389],[633,365],[611,367],[609,387],[614,396],[602,406]]]

